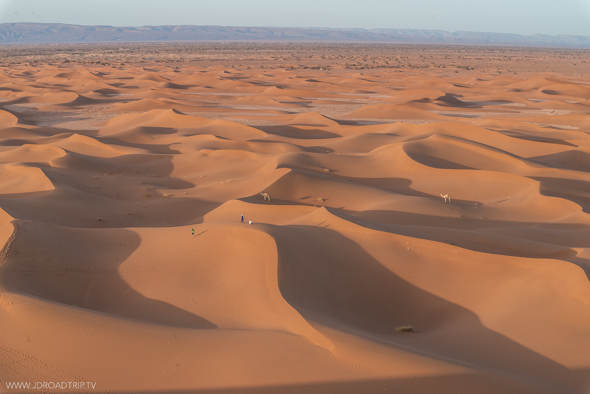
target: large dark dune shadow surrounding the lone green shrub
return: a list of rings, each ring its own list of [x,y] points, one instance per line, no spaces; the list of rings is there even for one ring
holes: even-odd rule
[[[273,231],[279,287],[310,323],[563,389],[581,390],[589,382],[586,372],[527,349],[485,327],[467,308],[405,281],[339,232],[304,225],[283,228]],[[419,333],[394,332],[407,324]]]

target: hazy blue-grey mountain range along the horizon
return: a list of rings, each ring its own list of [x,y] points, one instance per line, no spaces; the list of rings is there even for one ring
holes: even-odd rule
[[[520,35],[422,29],[233,27],[165,25],[83,26],[61,23],[0,24],[0,44],[137,41],[382,42],[590,47],[588,35]]]

